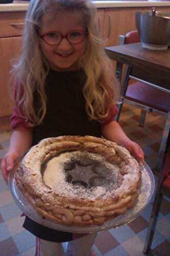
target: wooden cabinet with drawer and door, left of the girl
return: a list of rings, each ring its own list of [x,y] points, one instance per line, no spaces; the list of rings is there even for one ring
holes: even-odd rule
[[[25,12],[0,13],[0,118],[10,116],[13,100],[11,68],[21,49]]]

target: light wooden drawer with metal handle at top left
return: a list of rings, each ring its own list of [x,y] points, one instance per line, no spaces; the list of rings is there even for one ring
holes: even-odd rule
[[[0,12],[0,37],[22,35],[25,16],[25,11]]]

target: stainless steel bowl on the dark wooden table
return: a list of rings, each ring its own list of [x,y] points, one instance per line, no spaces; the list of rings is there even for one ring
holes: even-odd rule
[[[170,45],[170,13],[136,12],[136,27],[142,46],[149,49],[167,49]]]

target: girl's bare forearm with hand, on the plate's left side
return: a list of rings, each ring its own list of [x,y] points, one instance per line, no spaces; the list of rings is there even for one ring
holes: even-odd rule
[[[17,127],[10,139],[10,146],[8,153],[4,156],[1,168],[6,181],[8,181],[8,174],[15,166],[17,157],[25,153],[32,144],[32,131],[28,131],[23,127]]]

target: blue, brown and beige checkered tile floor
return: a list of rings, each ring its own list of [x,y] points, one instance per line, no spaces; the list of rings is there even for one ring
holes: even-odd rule
[[[148,114],[143,128],[138,126],[140,111],[125,105],[120,116],[120,124],[145,152],[145,160],[154,167],[164,126],[164,118]],[[0,158],[8,150],[10,132],[0,133]],[[96,256],[141,256],[147,225],[151,215],[152,202],[142,214],[129,224],[98,233],[93,249]],[[0,172],[0,255],[34,256],[35,237],[22,228],[24,217],[13,202],[11,193]],[[170,200],[163,199],[157,229],[152,244],[157,256],[170,255]]]

